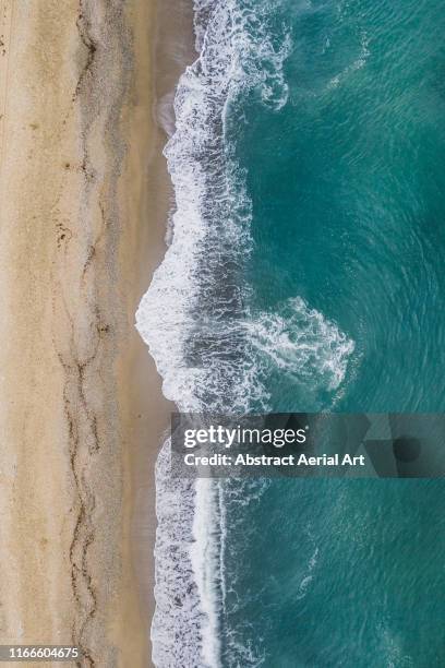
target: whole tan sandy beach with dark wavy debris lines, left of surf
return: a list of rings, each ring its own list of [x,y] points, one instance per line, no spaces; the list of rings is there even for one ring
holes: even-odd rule
[[[169,405],[134,312],[171,198],[156,8],[0,11],[0,643],[149,666]]]

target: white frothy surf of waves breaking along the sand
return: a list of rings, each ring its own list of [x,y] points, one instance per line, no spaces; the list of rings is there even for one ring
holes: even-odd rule
[[[237,0],[195,0],[200,56],[175,98],[176,130],[165,150],[176,193],[170,244],[136,326],[164,394],[183,411],[266,410],[262,379],[270,363],[289,373],[304,373],[306,363],[308,374],[316,370],[338,386],[351,349],[302,300],[277,313],[245,308],[240,276],[252,246],[251,203],[226,122],[228,109],[250,93],[270,110],[286,104],[290,37],[269,34],[266,10],[258,0],[246,0],[242,11]],[[156,467],[153,658],[157,668],[213,668],[220,665],[218,607],[225,597],[221,488],[171,479],[169,457],[167,441]]]

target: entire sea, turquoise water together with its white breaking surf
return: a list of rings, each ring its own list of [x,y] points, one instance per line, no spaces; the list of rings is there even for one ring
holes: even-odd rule
[[[437,0],[195,0],[137,327],[181,410],[445,408]],[[440,480],[157,465],[158,668],[445,665]]]

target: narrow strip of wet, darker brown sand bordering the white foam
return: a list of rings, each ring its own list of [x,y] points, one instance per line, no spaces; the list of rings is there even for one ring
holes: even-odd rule
[[[173,100],[177,83],[187,64],[195,58],[194,31],[193,31],[193,3],[191,0],[157,0],[154,9],[154,31],[152,33],[152,57],[153,57],[153,127],[156,141],[152,144],[152,155],[147,169],[147,182],[144,193],[145,211],[147,220],[152,220],[156,227],[157,243],[153,246],[153,238],[146,242],[146,258],[144,260],[143,273],[146,274],[142,283],[142,291],[133,314],[143,295],[147,291],[153,274],[161,264],[167,251],[166,236],[168,236],[168,220],[175,210],[175,190],[170,175],[167,169],[167,160],[164,156],[164,147],[175,129]],[[143,41],[141,40],[141,44]],[[139,61],[144,62],[143,55]],[[147,237],[149,230],[146,230]],[[143,396],[148,396],[149,374],[159,379],[155,362],[141,335],[133,327],[133,334],[137,337],[137,348],[141,356],[145,357],[145,366],[149,366],[149,373],[144,372],[141,365],[136,365],[139,384],[146,387]],[[168,418],[175,404],[168,402],[161,394],[161,403],[169,407]],[[158,411],[153,402],[146,410],[145,433],[148,433],[153,419],[158,419]],[[133,482],[135,491],[134,517],[132,535],[135,572],[139,586],[142,591],[142,606],[144,618],[147,619],[147,637],[151,639],[153,617],[155,612],[155,557],[154,548],[156,540],[157,513],[156,513],[156,484],[155,466],[157,456],[163,446],[165,434],[169,427],[169,419],[160,420],[156,429],[156,443],[149,449],[149,453],[140,452],[136,456]],[[144,425],[142,425],[144,432]],[[148,456],[147,456],[148,454]],[[149,569],[149,574],[148,574]],[[149,665],[153,665],[149,659]]]

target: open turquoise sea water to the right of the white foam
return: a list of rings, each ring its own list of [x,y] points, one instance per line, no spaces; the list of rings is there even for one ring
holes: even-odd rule
[[[232,126],[252,199],[251,299],[276,311],[302,297],[354,342],[334,392],[316,369],[272,366],[272,407],[444,410],[443,7],[266,11],[290,35],[287,102],[270,109],[249,91]],[[445,665],[442,481],[264,487],[228,501],[224,666]]]

